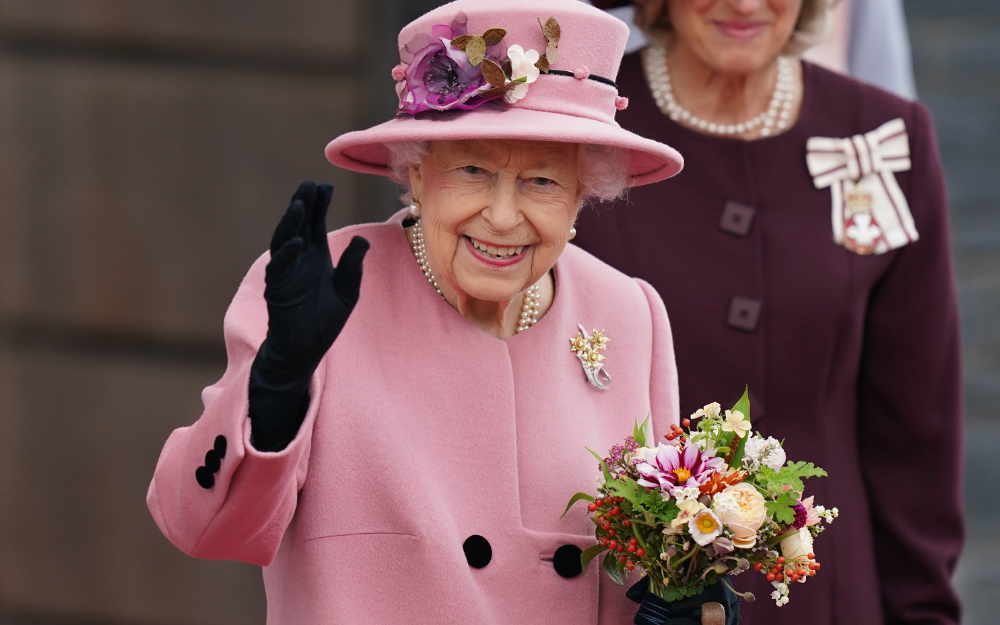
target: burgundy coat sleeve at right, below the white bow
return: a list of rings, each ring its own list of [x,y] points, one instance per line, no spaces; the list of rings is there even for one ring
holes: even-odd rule
[[[957,624],[962,548],[958,306],[930,115],[914,104],[908,199],[919,240],[871,294],[859,379],[859,452],[887,624]]]

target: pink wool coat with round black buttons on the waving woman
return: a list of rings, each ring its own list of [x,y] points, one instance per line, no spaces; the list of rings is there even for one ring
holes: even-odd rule
[[[594,544],[583,504],[559,518],[570,495],[595,487],[585,448],[606,451],[647,413],[657,437],[677,421],[662,301],[569,245],[548,314],[497,340],[427,284],[401,219],[329,235],[334,259],[354,235],[371,242],[361,298],[315,374],[298,437],[278,453],[249,443],[267,255],[253,265],[226,314],[226,373],[157,463],[157,525],[190,555],[263,566],[271,625],[631,623],[625,588],[598,581],[593,565],[561,577],[552,556]],[[607,330],[608,390],[569,349],[578,323]],[[205,489],[195,470],[220,435],[226,453]],[[492,548],[484,568],[466,560],[471,535]]]

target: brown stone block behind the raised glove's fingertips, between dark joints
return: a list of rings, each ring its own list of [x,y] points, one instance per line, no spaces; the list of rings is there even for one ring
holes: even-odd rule
[[[223,313],[299,182],[359,176],[350,79],[0,55],[0,320],[221,340]]]

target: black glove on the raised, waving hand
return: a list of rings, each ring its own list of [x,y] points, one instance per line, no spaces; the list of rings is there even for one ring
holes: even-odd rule
[[[309,380],[358,302],[368,241],[354,237],[334,269],[326,240],[333,187],[303,182],[271,238],[267,338],[250,369],[251,442],[280,451],[309,408]]]

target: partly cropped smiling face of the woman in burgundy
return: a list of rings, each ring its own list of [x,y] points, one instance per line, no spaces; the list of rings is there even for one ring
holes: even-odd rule
[[[770,65],[795,30],[803,0],[665,0],[677,42],[716,72]]]

